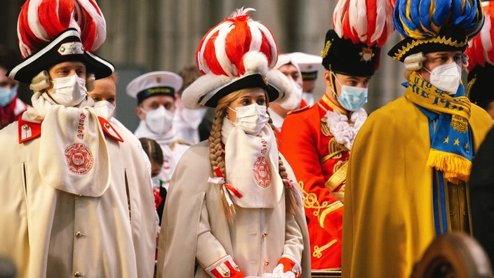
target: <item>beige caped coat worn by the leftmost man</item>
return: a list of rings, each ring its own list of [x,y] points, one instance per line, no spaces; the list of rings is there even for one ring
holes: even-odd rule
[[[41,186],[40,138],[18,143],[18,122],[0,132],[0,256],[13,260],[18,277],[152,277],[149,172],[132,133],[114,128],[123,143],[105,135],[111,182],[101,197]]]

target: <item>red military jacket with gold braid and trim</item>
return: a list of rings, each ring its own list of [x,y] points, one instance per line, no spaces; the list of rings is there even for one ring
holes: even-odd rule
[[[349,152],[329,132],[328,110],[346,113],[323,95],[312,107],[288,114],[279,137],[279,150],[304,194],[313,270],[341,267],[343,204],[333,194],[345,185],[346,167],[342,166],[346,166]]]

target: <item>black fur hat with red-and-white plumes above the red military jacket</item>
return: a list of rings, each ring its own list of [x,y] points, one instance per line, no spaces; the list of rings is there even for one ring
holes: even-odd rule
[[[392,1],[338,1],[333,27],[326,32],[321,51],[328,70],[357,77],[370,77],[379,67],[381,46],[394,31]],[[358,8],[352,8],[358,7]]]

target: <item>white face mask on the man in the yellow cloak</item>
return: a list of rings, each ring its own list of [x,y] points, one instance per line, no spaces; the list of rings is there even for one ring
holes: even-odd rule
[[[462,79],[462,68],[460,65],[455,62],[450,62],[449,64],[434,67],[432,71],[429,71],[429,69],[426,69],[425,67],[424,69],[431,74],[429,77],[430,84],[450,95],[456,93],[458,86],[460,86],[460,80]]]

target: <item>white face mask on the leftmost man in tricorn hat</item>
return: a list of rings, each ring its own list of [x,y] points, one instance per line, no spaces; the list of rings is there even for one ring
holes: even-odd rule
[[[53,92],[50,92],[50,95],[59,105],[76,106],[86,98],[86,79],[76,74],[55,78],[53,79]]]

